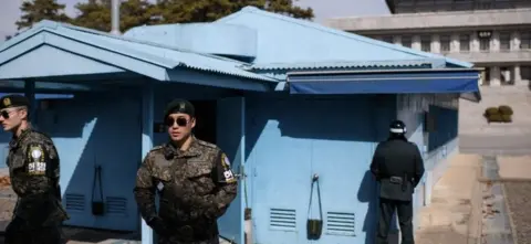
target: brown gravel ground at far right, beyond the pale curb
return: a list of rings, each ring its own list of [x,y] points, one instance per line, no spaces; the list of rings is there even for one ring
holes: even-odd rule
[[[531,244],[531,181],[506,182],[506,197],[518,243]]]

